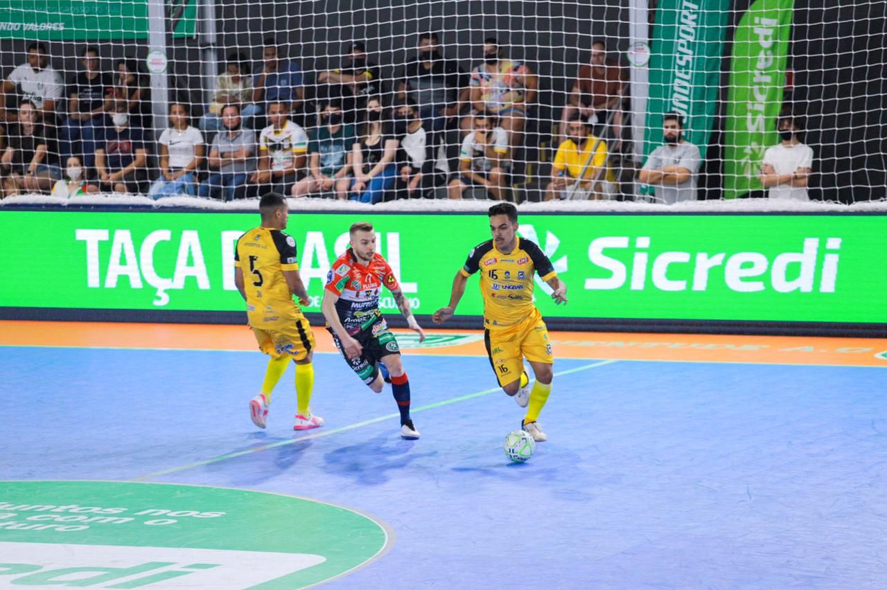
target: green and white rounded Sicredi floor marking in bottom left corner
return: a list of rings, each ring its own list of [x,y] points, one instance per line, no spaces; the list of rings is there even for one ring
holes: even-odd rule
[[[291,589],[345,575],[393,542],[371,516],[278,493],[0,482],[0,587]]]

